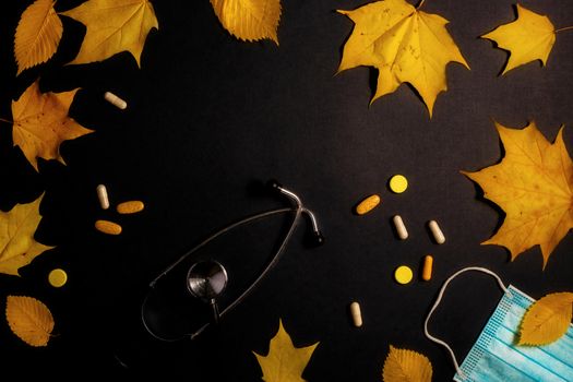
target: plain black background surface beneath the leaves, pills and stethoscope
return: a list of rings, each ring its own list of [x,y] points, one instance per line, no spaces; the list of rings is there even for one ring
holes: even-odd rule
[[[80,2],[60,1],[56,8],[64,11]],[[493,120],[514,128],[535,120],[550,141],[564,123],[573,151],[573,34],[558,34],[547,68],[537,61],[504,76],[498,74],[506,52],[478,38],[515,19],[513,1],[426,1],[423,11],[450,20],[447,29],[471,67],[447,67],[449,91],[438,97],[432,119],[406,85],[369,107],[372,69],[335,75],[353,28],[335,10],[363,1],[283,0],[278,47],[235,39],[207,0],[155,1],[159,31],[147,38],[141,69],[128,52],[65,65],[85,28],[62,16],[57,55],[16,76],[13,35],[29,3],[0,4],[0,117],[11,118],[11,99],[39,76],[44,92],[81,87],[70,115],[95,132],[61,145],[67,166],[40,159],[37,174],[13,147],[11,126],[1,126],[0,208],[9,211],[45,191],[36,239],[56,246],[23,267],[22,277],[0,277],[2,309],[8,295],[32,296],[50,308],[56,321],[56,336],[45,348],[25,345],[0,323],[3,372],[82,370],[77,375],[85,375],[88,370],[256,381],[262,373],[252,351],[266,354],[280,318],[296,346],[320,342],[303,373],[309,381],[378,381],[390,344],[428,356],[434,380],[442,381],[454,369],[446,353],[425,338],[422,322],[449,275],[478,265],[535,298],[573,289],[573,237],[561,241],[545,271],[538,247],[510,262],[505,249],[480,246],[501,225],[503,213],[459,174],[501,160]],[[547,14],[556,27],[573,24],[571,1],[521,4]],[[106,91],[123,97],[128,109],[107,104]],[[387,189],[394,174],[409,180],[403,194]],[[326,243],[306,248],[303,224],[268,277],[219,327],[193,342],[153,338],[140,318],[147,284],[228,223],[288,206],[258,189],[267,178],[277,178],[315,212]],[[140,199],[145,211],[118,216],[100,210],[98,183],[107,184],[112,205]],[[372,193],[382,204],[368,215],[354,215],[353,206]],[[406,222],[406,241],[393,231],[394,214]],[[93,228],[98,218],[120,223],[123,234],[99,234]],[[430,219],[440,223],[445,244],[432,242],[426,228]],[[213,256],[228,267],[222,306],[268,261],[285,223],[271,220],[240,229],[190,259]],[[401,286],[393,280],[402,264],[418,275],[427,253],[434,255],[431,282],[417,276]],[[69,274],[59,289],[47,283],[55,267]],[[179,277],[166,296],[174,307],[187,309],[194,324],[206,307],[191,301]],[[431,332],[452,344],[462,361],[500,296],[487,276],[455,280]],[[362,307],[361,329],[350,323],[354,300]],[[196,317],[190,306],[198,307]]]

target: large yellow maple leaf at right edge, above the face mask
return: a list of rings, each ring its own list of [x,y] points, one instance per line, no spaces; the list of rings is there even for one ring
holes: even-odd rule
[[[563,142],[563,128],[551,144],[534,122],[522,130],[496,127],[505,150],[502,162],[477,172],[462,171],[506,215],[498,232],[482,243],[508,248],[512,261],[540,244],[545,268],[573,227],[573,162]]]

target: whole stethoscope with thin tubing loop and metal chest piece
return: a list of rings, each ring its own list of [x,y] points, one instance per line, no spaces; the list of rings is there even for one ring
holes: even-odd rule
[[[286,235],[283,237],[283,239],[280,241],[280,246],[278,246],[278,249],[276,250],[275,254],[272,256],[272,259],[268,262],[268,264],[263,268],[263,271],[259,274],[259,276],[250,284],[250,286],[247,287],[244,289],[244,291],[239,295],[239,297],[237,297],[232,302],[230,302],[225,309],[223,309],[219,312],[219,309],[218,309],[218,306],[217,306],[217,297],[220,296],[220,294],[223,294],[223,291],[225,290],[225,288],[227,286],[227,282],[228,282],[227,271],[225,270],[225,267],[219,262],[217,262],[215,260],[205,260],[205,261],[200,261],[200,262],[194,263],[193,265],[191,265],[191,267],[189,268],[189,272],[187,273],[187,279],[186,279],[187,290],[189,291],[189,294],[191,296],[193,296],[193,297],[195,297],[198,299],[201,299],[201,300],[205,301],[206,303],[208,303],[211,306],[212,311],[213,311],[213,321],[212,322],[206,322],[205,324],[200,326],[199,330],[196,330],[195,332],[183,334],[179,338],[175,338],[175,339],[172,339],[172,338],[165,338],[165,337],[158,335],[157,333],[155,333],[150,327],[150,325],[148,325],[148,323],[147,323],[147,321],[145,319],[146,303],[147,303],[147,299],[148,299],[150,294],[151,294],[151,290],[150,290],[150,291],[147,291],[147,295],[145,296],[145,299],[144,299],[144,301],[143,301],[143,303],[141,306],[141,318],[142,318],[142,321],[143,321],[143,325],[145,326],[145,329],[147,330],[147,332],[151,335],[153,335],[157,339],[162,339],[162,341],[166,341],[166,342],[175,342],[175,341],[179,341],[179,339],[182,339],[182,338],[186,338],[186,337],[189,337],[190,339],[193,339],[198,335],[203,333],[207,327],[210,327],[210,325],[212,323],[218,323],[220,318],[223,318],[231,309],[234,309],[242,300],[244,300],[244,298],[266,276],[268,271],[271,271],[276,265],[276,263],[278,262],[280,255],[283,254],[283,252],[284,252],[288,241],[290,240],[290,237],[293,236],[293,234],[295,231],[295,228],[296,228],[298,222],[300,220],[302,214],[306,214],[309,217],[310,224],[311,224],[312,231],[311,231],[311,235],[309,236],[309,244],[311,244],[312,247],[318,247],[318,246],[321,246],[324,242],[324,237],[322,236],[321,231],[319,230],[319,225],[317,223],[317,217],[314,216],[312,211],[310,211],[307,207],[305,207],[305,205],[302,204],[300,198],[296,193],[285,189],[276,180],[270,180],[266,183],[266,187],[271,191],[273,191],[275,193],[278,193],[278,194],[287,196],[290,200],[290,202],[293,202],[295,204],[295,206],[294,207],[288,207],[288,208],[271,210],[271,211],[266,211],[266,212],[263,212],[263,213],[254,214],[254,215],[248,216],[248,217],[246,217],[246,218],[243,218],[243,219],[241,219],[239,222],[232,223],[232,224],[222,228],[220,230],[218,230],[215,234],[211,235],[208,238],[206,238],[205,240],[200,242],[198,246],[193,247],[191,250],[189,250],[188,252],[182,254],[171,265],[167,266],[167,268],[165,268],[165,271],[163,271],[157,277],[155,277],[150,283],[150,288],[154,289],[155,288],[155,284],[160,278],[166,276],[169,272],[171,272],[175,267],[177,267],[177,265],[179,265],[188,256],[190,256],[191,254],[193,254],[194,252],[196,252],[199,249],[203,248],[204,246],[206,246],[211,241],[215,240],[219,236],[222,236],[222,235],[224,235],[224,234],[226,234],[226,232],[228,232],[228,231],[230,231],[230,230],[232,230],[232,229],[235,229],[237,227],[243,226],[246,224],[253,223],[253,222],[255,222],[258,219],[261,219],[261,218],[264,218],[264,217],[278,215],[278,214],[284,214],[284,213],[294,213],[295,216],[293,217],[290,226],[289,226]]]

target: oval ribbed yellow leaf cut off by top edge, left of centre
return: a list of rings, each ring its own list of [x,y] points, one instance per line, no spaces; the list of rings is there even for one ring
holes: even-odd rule
[[[280,0],[211,0],[211,4],[235,37],[247,41],[271,38],[278,45]]]

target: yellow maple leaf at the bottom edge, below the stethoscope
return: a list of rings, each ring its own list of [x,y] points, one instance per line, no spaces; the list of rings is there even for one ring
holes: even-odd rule
[[[278,332],[271,339],[268,354],[261,356],[253,351],[265,382],[297,382],[305,381],[302,371],[319,343],[307,347],[297,348],[293,345],[290,336],[278,321]]]

